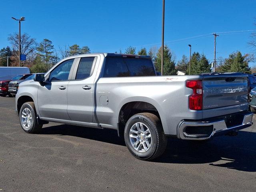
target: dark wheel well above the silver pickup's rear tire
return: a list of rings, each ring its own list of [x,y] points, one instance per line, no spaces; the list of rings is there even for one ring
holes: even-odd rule
[[[148,102],[134,101],[124,104],[118,117],[118,135],[122,135],[120,132],[123,132],[125,124],[131,116],[144,112],[152,113],[161,120],[158,110]]]

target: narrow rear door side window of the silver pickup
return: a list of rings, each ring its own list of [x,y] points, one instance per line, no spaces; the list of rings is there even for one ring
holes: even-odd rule
[[[88,78],[91,74],[92,64],[95,57],[84,57],[80,59],[78,70],[76,73],[76,79]]]

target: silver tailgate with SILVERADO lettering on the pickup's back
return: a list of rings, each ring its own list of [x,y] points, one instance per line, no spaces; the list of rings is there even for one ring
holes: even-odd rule
[[[248,77],[246,74],[203,76],[203,110],[206,112],[210,109],[223,110],[223,108],[225,108],[225,114],[248,110]],[[214,116],[218,115],[214,114]]]

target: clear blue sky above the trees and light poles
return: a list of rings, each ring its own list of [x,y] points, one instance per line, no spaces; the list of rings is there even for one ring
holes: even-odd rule
[[[0,48],[10,45],[8,34],[18,32],[11,17],[21,16],[22,32],[38,42],[52,40],[56,50],[79,44],[92,52],[124,52],[161,43],[162,0],[4,0],[1,7]],[[166,0],[165,12],[165,42],[176,60],[189,56],[188,44],[212,60],[213,32],[243,31],[219,33],[217,58],[236,50],[252,53],[246,30],[256,30],[256,0]]]

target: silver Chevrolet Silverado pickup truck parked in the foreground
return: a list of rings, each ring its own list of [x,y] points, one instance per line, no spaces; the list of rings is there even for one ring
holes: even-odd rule
[[[132,155],[160,156],[168,136],[209,140],[252,125],[245,74],[157,76],[149,56],[84,54],[22,82],[16,95],[22,129],[59,122],[108,128]]]

